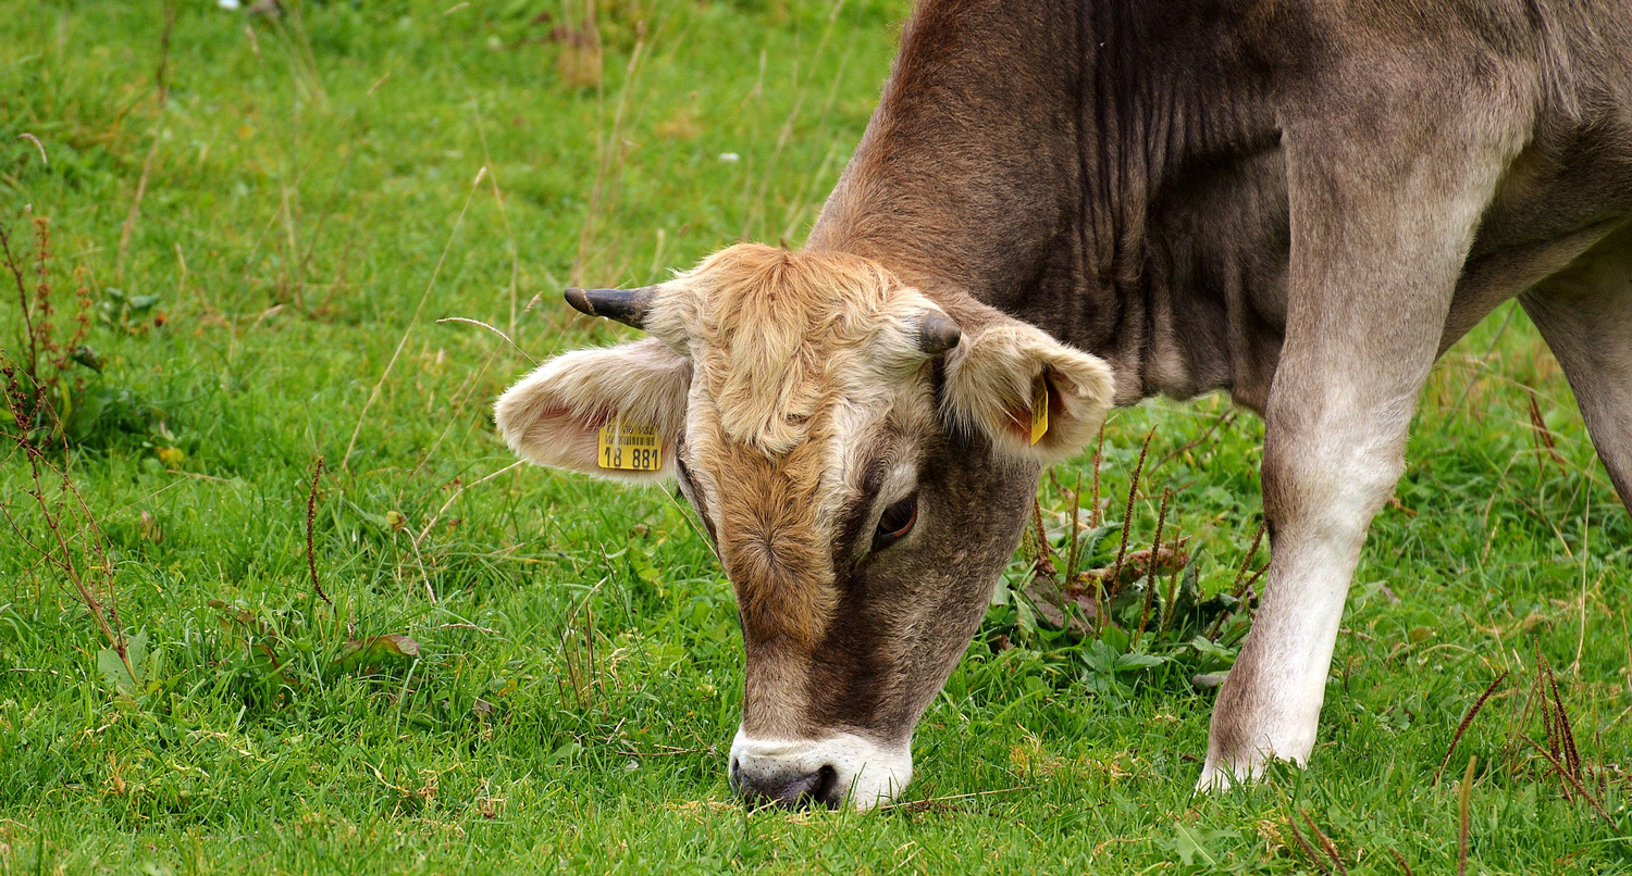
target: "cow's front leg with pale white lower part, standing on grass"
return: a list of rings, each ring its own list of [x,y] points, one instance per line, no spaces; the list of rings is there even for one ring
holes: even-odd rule
[[[1314,749],[1361,543],[1404,468],[1456,279],[1516,150],[1451,124],[1286,126],[1288,326],[1263,458],[1271,563],[1219,690],[1200,788],[1255,778],[1271,759],[1302,763]]]

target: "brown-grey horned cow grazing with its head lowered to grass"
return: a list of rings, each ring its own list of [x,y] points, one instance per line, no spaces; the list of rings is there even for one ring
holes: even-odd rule
[[[496,426],[677,481],[743,628],[733,788],[868,807],[1040,467],[1222,390],[1265,421],[1273,558],[1198,786],[1304,765],[1423,382],[1498,303],[1632,499],[1627,46],[1629,0],[922,0],[805,246],[568,290],[648,336],[548,361]]]

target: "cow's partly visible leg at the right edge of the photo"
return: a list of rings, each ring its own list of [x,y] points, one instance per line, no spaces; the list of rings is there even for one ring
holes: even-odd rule
[[[1575,390],[1598,458],[1632,511],[1632,227],[1519,297]]]

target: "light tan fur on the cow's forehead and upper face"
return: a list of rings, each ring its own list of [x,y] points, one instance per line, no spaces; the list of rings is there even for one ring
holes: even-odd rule
[[[689,468],[749,639],[808,644],[826,628],[836,517],[858,488],[847,450],[902,405],[932,426],[914,378],[929,308],[867,259],[756,245],[705,259],[654,305],[648,330],[692,361]]]

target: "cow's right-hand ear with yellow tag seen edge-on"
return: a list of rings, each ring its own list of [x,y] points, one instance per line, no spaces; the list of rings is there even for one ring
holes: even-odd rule
[[[947,356],[943,398],[953,427],[982,432],[999,453],[1051,463],[1093,440],[1115,382],[1103,359],[997,316]]]

